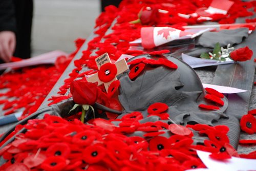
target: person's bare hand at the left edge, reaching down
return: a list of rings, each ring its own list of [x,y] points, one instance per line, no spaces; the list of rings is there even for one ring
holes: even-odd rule
[[[16,45],[15,33],[12,31],[0,32],[0,58],[9,62]]]

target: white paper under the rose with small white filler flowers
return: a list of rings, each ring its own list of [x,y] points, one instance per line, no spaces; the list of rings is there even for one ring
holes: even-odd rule
[[[186,62],[192,68],[218,66],[218,65],[223,65],[223,64],[234,62],[230,58],[226,58],[226,61],[218,61],[218,60],[197,58],[197,57],[186,55],[184,53],[181,56],[182,56],[182,60],[184,62]]]

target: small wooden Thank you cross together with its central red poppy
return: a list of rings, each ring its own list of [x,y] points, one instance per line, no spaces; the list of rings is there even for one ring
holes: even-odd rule
[[[95,58],[99,72],[87,78],[88,82],[98,82],[98,85],[102,83],[105,86],[106,91],[111,82],[117,80],[116,76],[122,74],[128,70],[125,59],[121,59],[115,63],[111,63],[108,53]]]

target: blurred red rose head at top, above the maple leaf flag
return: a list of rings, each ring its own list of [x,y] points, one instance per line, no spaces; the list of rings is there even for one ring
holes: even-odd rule
[[[143,10],[140,16],[142,25],[155,25],[159,20],[159,12],[156,7],[151,7],[150,10]]]

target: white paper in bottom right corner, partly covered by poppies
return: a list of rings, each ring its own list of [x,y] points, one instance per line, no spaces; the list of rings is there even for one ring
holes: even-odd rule
[[[210,153],[197,151],[199,158],[210,170],[242,171],[256,170],[256,159],[243,159],[232,157],[224,161],[214,160],[209,157]]]

